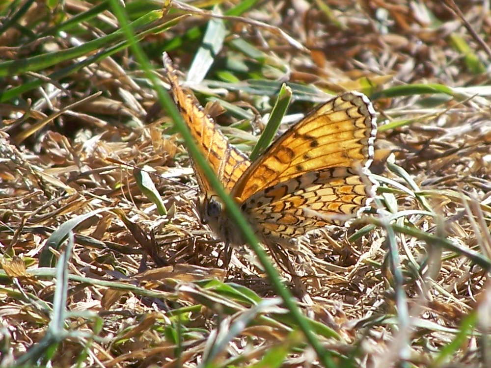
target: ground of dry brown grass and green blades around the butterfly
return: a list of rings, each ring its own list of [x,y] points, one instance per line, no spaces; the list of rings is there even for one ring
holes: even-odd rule
[[[378,112],[379,214],[287,251],[324,355],[248,248],[223,266],[119,3],[26,0],[0,4],[0,366],[491,367],[489,2],[213,3],[124,10],[239,149],[283,82],[280,129],[346,90]]]

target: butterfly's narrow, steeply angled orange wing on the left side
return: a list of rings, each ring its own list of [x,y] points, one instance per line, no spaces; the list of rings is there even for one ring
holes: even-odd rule
[[[179,79],[172,67],[172,61],[165,53],[164,68],[170,83],[172,97],[201,153],[212,166],[223,186],[230,191],[250,165],[250,160],[228,142],[223,133],[218,130],[215,121],[199,105],[194,95],[179,85]],[[192,165],[201,192],[210,193],[212,191],[211,186],[203,172],[195,162],[192,162]]]

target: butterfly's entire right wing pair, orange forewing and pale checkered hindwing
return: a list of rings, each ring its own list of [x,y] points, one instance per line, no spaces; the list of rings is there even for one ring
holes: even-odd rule
[[[286,244],[328,224],[345,224],[373,197],[367,168],[376,133],[366,96],[335,97],[254,161],[232,195],[267,243]]]

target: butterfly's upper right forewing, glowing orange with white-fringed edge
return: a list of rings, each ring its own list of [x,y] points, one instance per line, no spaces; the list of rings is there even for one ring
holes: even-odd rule
[[[358,92],[344,93],[310,112],[244,172],[232,195],[244,203],[278,183],[333,167],[368,167],[377,133],[375,110]]]

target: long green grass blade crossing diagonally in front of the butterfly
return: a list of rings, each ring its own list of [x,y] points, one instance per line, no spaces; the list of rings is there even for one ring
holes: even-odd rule
[[[122,25],[122,29],[126,34],[126,37],[130,41],[131,48],[136,56],[136,59],[141,64],[141,67],[147,78],[152,82],[153,87],[159,96],[160,103],[172,117],[176,128],[183,136],[184,142],[191,156],[194,158],[197,165],[199,165],[199,167],[202,169],[204,175],[209,180],[212,188],[216,191],[217,195],[223,200],[225,208],[227,209],[231,219],[237,223],[237,226],[243,233],[246,242],[252,248],[258,260],[263,265],[266,274],[270,278],[273,288],[283,299],[285,306],[290,310],[291,315],[299,324],[300,329],[304,333],[307,341],[317,353],[317,356],[321,363],[328,368],[336,367],[334,362],[332,361],[331,352],[327,350],[323,345],[321,345],[315,334],[311,331],[307,319],[300,312],[300,309],[297,306],[295,299],[293,298],[290,291],[286,289],[286,287],[281,282],[278,271],[273,267],[273,264],[269,261],[266,252],[259,245],[258,238],[255,236],[250,225],[247,223],[246,219],[241,213],[241,210],[238,208],[235,201],[230,198],[230,196],[225,192],[223,185],[219,183],[212,168],[206,162],[206,159],[203,157],[203,155],[200,154],[199,148],[194,143],[191,132],[187,129],[181,114],[177,110],[177,107],[174,105],[169,94],[164,90],[163,86],[159,82],[159,79],[157,79],[155,74],[152,73],[152,67],[148,58],[143,53],[140,45],[138,45],[136,42],[133,28],[128,27],[129,22],[127,19],[127,15],[125,14],[124,8],[122,7],[121,3],[117,0],[110,0],[110,2],[114,14],[118,18],[120,24]]]

